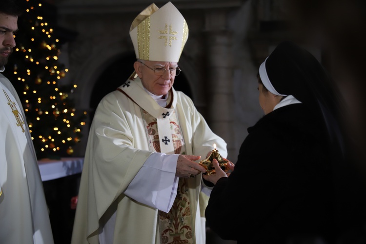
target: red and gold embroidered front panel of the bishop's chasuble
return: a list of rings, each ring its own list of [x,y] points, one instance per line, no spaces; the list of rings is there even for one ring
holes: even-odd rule
[[[185,154],[185,145],[175,110],[167,114],[168,119],[163,120],[163,125],[158,125],[157,119],[142,109],[146,122],[146,134],[151,151],[162,152],[166,147],[173,146],[175,154]],[[167,123],[167,124],[166,124]],[[159,138],[159,130],[166,131],[170,128],[171,133],[163,139]],[[172,142],[172,143],[168,143]],[[193,215],[190,207],[187,179],[180,178],[178,183],[177,197],[168,213],[158,211],[158,224],[162,244],[195,244],[193,229]]]

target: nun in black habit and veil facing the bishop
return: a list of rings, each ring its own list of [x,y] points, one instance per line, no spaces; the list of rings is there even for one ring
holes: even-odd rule
[[[205,217],[219,237],[238,244],[333,244],[345,230],[336,214],[335,169],[347,152],[342,99],[332,84],[321,63],[290,41],[260,65],[264,116],[248,128],[231,173],[214,160],[216,174],[203,175],[215,184]]]

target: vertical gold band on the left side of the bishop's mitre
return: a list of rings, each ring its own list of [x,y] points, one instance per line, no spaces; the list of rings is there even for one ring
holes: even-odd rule
[[[137,26],[139,58],[142,60],[150,60],[150,23],[149,16]]]

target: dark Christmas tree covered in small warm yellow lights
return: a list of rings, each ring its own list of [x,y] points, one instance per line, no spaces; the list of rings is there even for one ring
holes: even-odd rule
[[[38,159],[72,156],[86,118],[85,112],[75,109],[76,85],[61,85],[68,69],[59,61],[61,44],[54,35],[55,22],[45,18],[55,15],[44,4],[24,0],[17,45],[4,71],[20,96]]]

